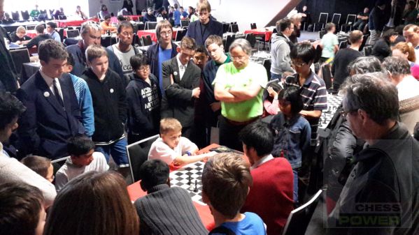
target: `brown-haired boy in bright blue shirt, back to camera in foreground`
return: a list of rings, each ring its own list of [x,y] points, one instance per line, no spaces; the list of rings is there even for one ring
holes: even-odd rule
[[[253,183],[248,163],[236,153],[219,153],[208,159],[202,172],[202,201],[215,220],[210,234],[264,235],[259,215],[240,213]]]

